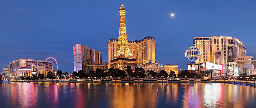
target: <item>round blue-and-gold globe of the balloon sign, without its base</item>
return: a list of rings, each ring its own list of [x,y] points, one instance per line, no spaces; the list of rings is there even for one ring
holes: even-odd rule
[[[187,56],[191,63],[196,63],[196,61],[201,57],[200,49],[195,46],[189,47],[185,53],[185,56]]]

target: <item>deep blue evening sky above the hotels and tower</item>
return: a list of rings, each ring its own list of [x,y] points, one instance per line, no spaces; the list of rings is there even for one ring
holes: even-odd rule
[[[256,57],[255,0],[1,0],[0,71],[17,59],[53,56],[60,70],[71,73],[74,44],[96,49],[108,61],[122,2],[128,40],[154,37],[160,64],[186,69],[192,38],[212,35],[236,37],[246,55]]]

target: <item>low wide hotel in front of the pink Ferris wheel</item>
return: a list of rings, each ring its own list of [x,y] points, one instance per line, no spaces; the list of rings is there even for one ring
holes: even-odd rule
[[[37,67],[37,74],[44,74],[46,76],[49,71],[53,71],[52,61],[18,59],[10,62],[8,65],[10,77],[23,76],[23,74],[19,73],[19,69],[27,69],[26,71],[30,69],[32,71],[33,65]]]

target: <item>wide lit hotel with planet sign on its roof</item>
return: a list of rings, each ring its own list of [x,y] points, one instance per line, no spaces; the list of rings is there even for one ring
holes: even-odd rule
[[[197,63],[213,62],[235,67],[238,65],[238,57],[246,56],[243,42],[233,37],[194,37],[193,46],[199,48],[202,53]]]

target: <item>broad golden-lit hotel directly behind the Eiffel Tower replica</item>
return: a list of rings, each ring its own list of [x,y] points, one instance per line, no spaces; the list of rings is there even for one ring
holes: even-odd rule
[[[118,39],[110,39],[108,41],[108,62],[114,59]],[[156,41],[154,37],[144,37],[141,40],[128,41],[128,47],[130,48],[132,57],[136,59],[136,64],[142,66],[142,64],[156,62]]]

